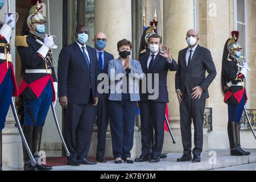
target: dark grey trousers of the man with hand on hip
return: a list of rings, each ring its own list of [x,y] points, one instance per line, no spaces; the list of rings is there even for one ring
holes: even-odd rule
[[[203,123],[205,100],[191,100],[185,90],[183,101],[180,104],[180,129],[184,148],[184,155],[191,155],[192,136],[191,124],[195,128],[193,155],[200,155],[203,150]]]

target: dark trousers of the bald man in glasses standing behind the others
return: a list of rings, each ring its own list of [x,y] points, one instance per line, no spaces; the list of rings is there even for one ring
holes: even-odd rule
[[[109,123],[109,108],[107,94],[101,94],[99,104],[96,107],[97,126],[98,126],[98,144],[96,158],[104,158],[106,146],[106,131]]]

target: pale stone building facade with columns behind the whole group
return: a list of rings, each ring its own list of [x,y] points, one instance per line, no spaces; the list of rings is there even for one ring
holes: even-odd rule
[[[20,35],[26,14],[30,9],[30,1],[11,0],[11,11],[19,13],[16,31],[13,34]],[[143,32],[143,9],[146,12],[146,23],[154,18],[155,10],[158,16],[158,32],[163,36],[164,44],[171,47],[171,54],[175,60],[180,49],[187,47],[185,42],[186,32],[195,28],[199,31],[201,46],[207,47],[212,52],[216,64],[217,77],[209,88],[210,98],[205,110],[205,132],[204,150],[229,148],[226,126],[228,123],[228,110],[223,102],[220,89],[222,52],[226,40],[230,37],[232,30],[240,31],[240,44],[245,48],[243,57],[250,63],[251,72],[246,79],[246,89],[249,96],[247,109],[250,109],[250,118],[256,125],[256,1],[255,0],[49,0],[43,1],[45,9],[43,13],[50,11],[51,34],[57,36],[58,49],[54,52],[56,64],[60,50],[63,46],[71,44],[75,40],[75,28],[85,24],[89,28],[89,42],[93,46],[93,35],[95,32],[105,32],[108,38],[106,51],[118,56],[116,44],[119,40],[126,38],[134,44],[133,58],[138,58],[139,42]],[[7,9],[2,9],[0,15]],[[47,13],[46,13],[47,15]],[[46,19],[49,17],[46,16]],[[14,39],[12,39],[14,45]],[[16,59],[16,76],[20,84],[20,59],[12,50]],[[177,102],[175,84],[175,73],[168,74],[168,92],[170,96],[169,115],[170,125],[176,138],[176,144],[172,144],[170,134],[166,133],[164,138],[164,152],[183,151],[180,134],[179,103]],[[253,110],[254,109],[254,110]],[[62,110],[56,106],[57,117],[61,125]],[[139,117],[138,117],[139,118]],[[247,128],[245,120],[241,124],[242,147],[255,148],[256,143],[251,131]],[[133,157],[140,155],[141,143],[139,133],[139,119],[135,127]],[[97,126],[94,128],[90,155],[95,156],[97,144]],[[3,167],[4,169],[22,168],[22,148],[18,130],[14,127],[14,118],[11,111],[7,118],[7,125],[3,131]],[[61,151],[61,143],[52,113],[49,111],[46,127],[44,128],[42,150]],[[112,157],[111,134],[108,130],[106,154]],[[46,154],[50,155],[50,153]],[[60,152],[61,155],[61,152]]]

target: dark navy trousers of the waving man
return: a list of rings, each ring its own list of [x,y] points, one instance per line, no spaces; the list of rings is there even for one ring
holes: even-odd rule
[[[155,144],[152,148],[152,156],[160,156],[164,142],[164,115],[166,103],[149,101],[140,103],[139,107],[141,109],[142,155],[150,155],[153,123]]]

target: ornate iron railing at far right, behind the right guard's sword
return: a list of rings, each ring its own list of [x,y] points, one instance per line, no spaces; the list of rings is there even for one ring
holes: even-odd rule
[[[246,109],[246,110],[251,122],[251,126],[253,126],[254,130],[256,130],[256,109]],[[250,130],[250,126],[244,112],[242,114],[240,126],[241,126],[241,129],[243,130]]]

